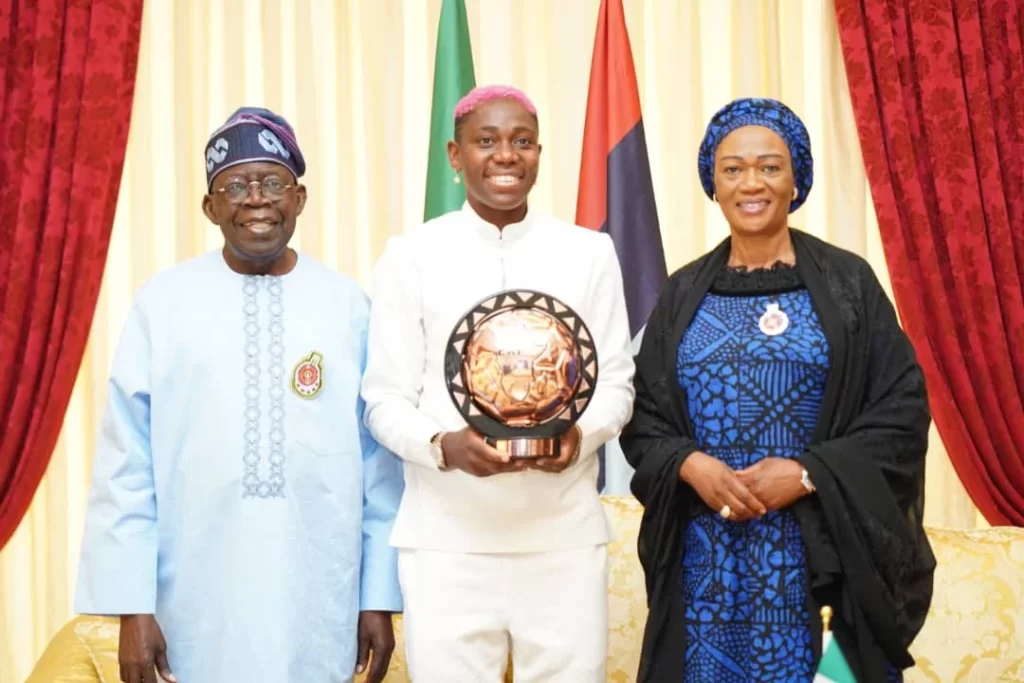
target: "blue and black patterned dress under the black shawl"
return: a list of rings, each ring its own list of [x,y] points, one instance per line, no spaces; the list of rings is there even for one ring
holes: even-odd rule
[[[765,281],[771,288],[759,291]],[[769,304],[788,318],[775,336],[759,324]],[[736,470],[803,453],[824,393],[828,342],[795,268],[723,272],[677,357],[702,452]],[[814,660],[796,516],[782,510],[737,523],[709,512],[690,520],[684,533],[685,681],[810,681]]]

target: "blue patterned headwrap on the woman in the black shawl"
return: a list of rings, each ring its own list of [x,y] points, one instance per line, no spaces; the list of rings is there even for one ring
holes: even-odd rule
[[[811,137],[804,122],[793,111],[775,99],[746,97],[735,99],[712,117],[697,153],[697,171],[705,194],[715,197],[715,151],[726,135],[743,126],[764,126],[778,133],[793,158],[793,178],[797,199],[790,205],[790,213],[799,209],[814,184],[814,159],[811,157]]]

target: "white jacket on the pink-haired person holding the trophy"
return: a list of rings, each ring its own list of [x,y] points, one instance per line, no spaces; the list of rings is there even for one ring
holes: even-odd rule
[[[441,472],[431,436],[466,426],[444,381],[449,336],[481,299],[516,288],[562,300],[596,342],[597,390],[579,423],[581,458],[560,474]],[[519,553],[608,541],[594,454],[632,415],[634,372],[622,272],[608,236],[532,212],[499,230],[466,205],[393,238],[377,264],[373,297],[366,421],[406,470],[392,543]]]

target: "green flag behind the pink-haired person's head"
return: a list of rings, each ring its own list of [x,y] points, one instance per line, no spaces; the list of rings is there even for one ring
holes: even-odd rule
[[[475,85],[466,2],[443,0],[434,54],[434,92],[430,106],[430,152],[427,155],[427,197],[423,220],[455,211],[466,201],[466,190],[462,184],[455,182],[455,173],[447,163],[447,141],[452,139],[455,105]]]

